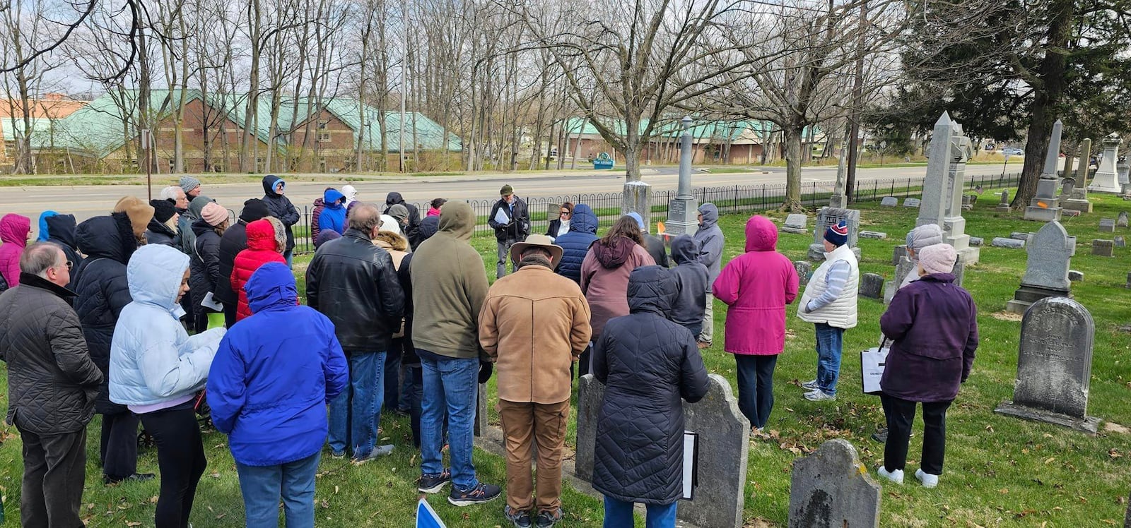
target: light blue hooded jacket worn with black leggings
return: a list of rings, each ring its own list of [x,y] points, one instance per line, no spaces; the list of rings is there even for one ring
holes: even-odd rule
[[[189,257],[141,246],[127,265],[133,301],[122,309],[110,346],[110,399],[144,414],[192,399],[205,386],[224,328],[189,336],[176,297]]]

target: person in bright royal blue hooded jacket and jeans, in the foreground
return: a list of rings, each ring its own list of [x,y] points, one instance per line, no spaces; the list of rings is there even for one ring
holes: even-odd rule
[[[330,319],[296,306],[286,265],[264,264],[244,289],[254,315],[232,327],[213,360],[213,423],[228,435],[247,526],[278,526],[282,496],[286,526],[312,528],[326,405],[349,382],[346,358]]]

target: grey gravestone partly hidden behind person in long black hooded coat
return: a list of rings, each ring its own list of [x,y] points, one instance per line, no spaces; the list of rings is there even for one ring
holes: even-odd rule
[[[604,397],[604,385],[593,375],[581,377],[575,467],[578,478],[586,482],[593,481],[597,419]],[[725,378],[708,375],[707,395],[697,403],[683,403],[683,429],[699,433],[699,485],[694,500],[680,501],[677,519],[701,527],[741,527],[750,422],[739,411],[739,401]]]

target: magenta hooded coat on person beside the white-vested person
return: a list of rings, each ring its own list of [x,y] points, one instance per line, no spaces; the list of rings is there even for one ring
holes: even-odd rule
[[[746,252],[731,259],[715,281],[725,302],[726,338],[732,354],[772,355],[785,349],[785,306],[797,297],[797,270],[777,252],[777,226],[754,215],[746,220]]]

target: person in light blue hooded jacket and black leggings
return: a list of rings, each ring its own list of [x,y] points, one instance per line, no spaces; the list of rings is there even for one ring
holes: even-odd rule
[[[161,494],[157,528],[188,526],[204,443],[193,404],[204,388],[224,328],[189,336],[180,301],[189,291],[189,257],[162,245],[141,246],[126,266],[132,302],[122,308],[110,344],[110,399],[141,417],[157,443]]]

